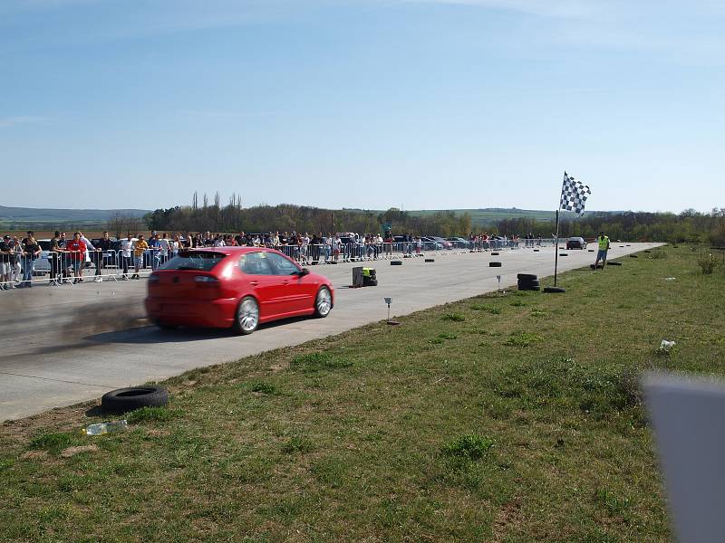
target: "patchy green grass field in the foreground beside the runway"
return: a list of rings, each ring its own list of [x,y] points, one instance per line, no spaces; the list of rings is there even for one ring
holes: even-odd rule
[[[125,433],[82,436],[92,405],[4,424],[0,540],[672,540],[637,383],[723,374],[699,254],[192,371]]]

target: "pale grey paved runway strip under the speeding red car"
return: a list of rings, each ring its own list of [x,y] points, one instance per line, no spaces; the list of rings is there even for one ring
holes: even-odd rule
[[[610,259],[660,243],[614,243]],[[623,246],[621,246],[623,245]],[[567,251],[559,271],[594,262],[594,252]],[[463,300],[516,284],[517,273],[554,273],[554,249],[445,252],[435,262],[414,257],[402,266],[388,261],[374,267],[379,284],[346,288],[353,263],[311,266],[333,281],[335,307],[326,319],[292,319],[262,325],[251,336],[227,330],[160,330],[144,320],[146,281],[104,281],[61,287],[0,292],[0,421],[42,413],[53,407],[92,400],[123,386],[177,376],[314,338],[324,338],[385,319],[383,297],[391,297],[391,315],[403,316],[446,302]],[[502,267],[488,267],[488,262]],[[614,269],[620,272],[625,268]],[[607,271],[610,272],[610,271]],[[89,281],[89,280],[87,280]],[[551,284],[551,281],[543,281]]]

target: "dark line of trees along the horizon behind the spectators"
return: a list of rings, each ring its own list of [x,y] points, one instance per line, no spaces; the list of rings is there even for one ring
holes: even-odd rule
[[[195,193],[192,205],[178,205],[168,209],[156,209],[146,214],[142,221],[117,216],[111,219],[109,231],[125,235],[145,225],[149,230],[168,232],[214,233],[378,233],[390,224],[391,231],[398,233],[430,234],[466,237],[471,232],[518,235],[533,233],[536,237],[553,236],[555,220],[511,218],[492,224],[472,224],[468,213],[440,211],[434,214],[411,214],[395,207],[387,211],[359,209],[324,209],[306,205],[256,205],[242,207],[241,198],[232,195],[222,205],[218,193],[209,201],[203,195],[199,202]],[[713,208],[710,213],[687,209],[681,214],[646,212],[594,212],[582,217],[562,212],[559,235],[594,238],[604,231],[610,238],[628,241],[653,241],[671,243],[712,243],[725,245],[725,208]]]

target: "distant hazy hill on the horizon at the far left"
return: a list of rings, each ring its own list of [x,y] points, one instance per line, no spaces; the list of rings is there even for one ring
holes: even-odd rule
[[[0,226],[11,230],[22,228],[93,227],[108,223],[111,217],[142,217],[146,209],[41,209],[5,207],[0,205]]]

